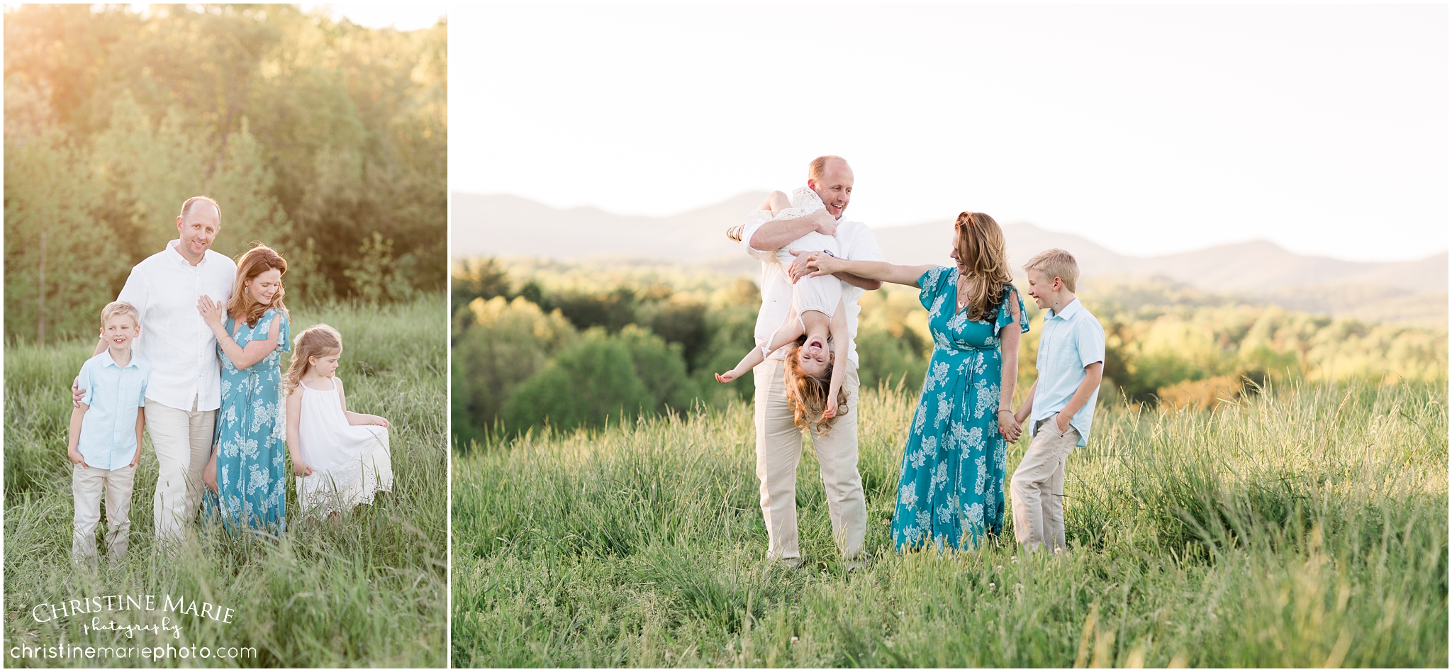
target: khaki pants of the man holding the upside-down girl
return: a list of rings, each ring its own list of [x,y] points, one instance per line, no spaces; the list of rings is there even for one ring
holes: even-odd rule
[[[832,517],[832,537],[842,557],[862,553],[867,534],[867,502],[862,476],[857,472],[857,366],[842,382],[847,414],[832,424],[826,435],[813,434],[812,446],[826,488],[826,507]],[[752,370],[756,382],[756,478],[761,479],[761,514],[767,520],[772,560],[800,559],[797,546],[797,463],[802,462],[802,431],[791,422],[787,408],[786,364],[762,361]]]

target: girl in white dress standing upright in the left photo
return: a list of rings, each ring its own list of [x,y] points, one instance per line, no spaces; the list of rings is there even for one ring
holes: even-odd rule
[[[325,324],[293,341],[287,367],[287,451],[305,515],[350,511],[393,489],[388,421],[347,409],[343,380],[334,376],[343,335]]]

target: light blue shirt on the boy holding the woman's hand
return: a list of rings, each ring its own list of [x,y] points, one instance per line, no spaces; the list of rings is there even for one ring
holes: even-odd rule
[[[1034,392],[1032,419],[1053,418],[1063,411],[1083,382],[1085,367],[1095,361],[1104,361],[1104,327],[1099,319],[1079,299],[1070,300],[1059,314],[1048,311],[1038,337],[1038,389]],[[1069,418],[1069,427],[1079,433],[1077,446],[1089,443],[1089,424],[1098,401],[1099,388],[1095,388],[1085,406]]]

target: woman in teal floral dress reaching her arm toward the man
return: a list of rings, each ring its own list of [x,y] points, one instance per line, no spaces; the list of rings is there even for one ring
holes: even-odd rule
[[[1012,412],[1018,343],[1028,315],[993,218],[958,215],[953,258],[955,269],[835,258],[809,264],[817,273],[848,271],[922,290],[934,348],[903,448],[892,528],[897,550],[971,547],[1003,528],[1006,448],[1021,433]]]

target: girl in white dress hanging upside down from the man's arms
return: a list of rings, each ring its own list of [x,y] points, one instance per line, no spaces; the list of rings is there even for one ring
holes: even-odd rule
[[[749,216],[797,219],[825,208],[810,187],[797,187],[790,196],[772,192],[761,210]],[[836,250],[836,238],[812,231],[777,250],[775,255],[777,263],[790,267],[793,251],[835,254]],[[791,286],[791,311],[771,341],[746,353],[736,369],[717,373],[716,380],[732,382],[761,364],[777,348],[790,345],[784,367],[787,406],[791,408],[797,427],[816,424],[819,431],[826,431],[833,418],[847,412],[847,392],[842,390],[847,366],[841,361],[847,356],[847,347],[833,345],[847,344],[848,338],[842,280],[832,276],[802,277]]]

